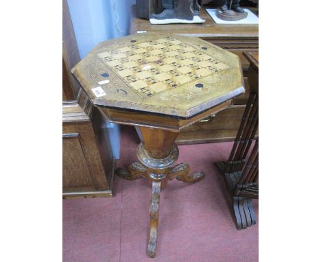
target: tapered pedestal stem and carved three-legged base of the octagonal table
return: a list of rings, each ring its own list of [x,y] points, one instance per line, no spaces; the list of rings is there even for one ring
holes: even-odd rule
[[[178,147],[175,144],[177,132],[143,127],[140,130],[143,139],[137,148],[137,157],[141,163],[132,163],[128,171],[117,169],[116,174],[127,180],[143,177],[152,184],[147,255],[155,257],[160,190],[166,186],[167,180],[176,178],[183,182],[198,182],[204,178],[204,174],[197,172],[189,175],[190,168],[186,163],[171,167],[178,158]]]

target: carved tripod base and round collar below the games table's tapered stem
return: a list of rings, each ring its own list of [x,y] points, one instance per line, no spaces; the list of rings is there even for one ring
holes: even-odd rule
[[[198,182],[204,178],[202,172],[189,174],[190,168],[186,163],[180,163],[171,167],[178,158],[178,147],[172,145],[171,152],[165,158],[152,158],[148,156],[147,150],[141,143],[137,150],[137,156],[141,163],[133,162],[129,165],[128,170],[117,169],[116,174],[127,180],[136,180],[145,178],[152,182],[152,196],[150,198],[150,237],[147,245],[148,257],[156,256],[156,241],[158,228],[158,212],[160,191],[167,184],[168,180],[176,178],[182,182]]]

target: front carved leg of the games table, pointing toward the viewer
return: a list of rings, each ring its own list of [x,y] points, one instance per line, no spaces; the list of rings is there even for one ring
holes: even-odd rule
[[[152,196],[150,198],[150,239],[148,240],[147,246],[148,257],[156,256],[160,184],[161,182],[152,182]]]

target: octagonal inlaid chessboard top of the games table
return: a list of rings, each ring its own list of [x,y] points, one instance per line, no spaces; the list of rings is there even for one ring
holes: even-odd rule
[[[173,34],[149,32],[99,43],[73,74],[96,106],[181,118],[244,92],[236,55]]]

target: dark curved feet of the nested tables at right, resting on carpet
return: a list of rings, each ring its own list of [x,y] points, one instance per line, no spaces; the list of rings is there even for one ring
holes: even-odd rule
[[[241,171],[225,173],[226,162],[219,161],[215,163],[219,172],[224,176],[226,187],[230,193],[230,202],[232,204],[235,224],[238,230],[246,229],[248,226],[256,224],[255,214],[252,206],[252,198],[244,198],[234,195],[235,185],[239,181]]]

